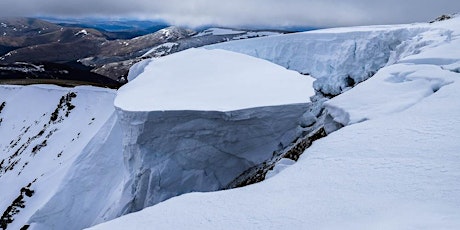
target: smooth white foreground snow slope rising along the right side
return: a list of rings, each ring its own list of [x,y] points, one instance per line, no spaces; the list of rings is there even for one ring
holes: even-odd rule
[[[460,18],[396,27],[420,33],[401,39],[392,64],[327,103],[349,126],[296,164],[259,184],[182,195],[92,229],[459,229]],[[395,31],[366,30],[381,28]],[[353,30],[362,29],[340,29]],[[307,43],[326,48],[340,37],[332,32],[292,38],[318,36],[325,42]]]

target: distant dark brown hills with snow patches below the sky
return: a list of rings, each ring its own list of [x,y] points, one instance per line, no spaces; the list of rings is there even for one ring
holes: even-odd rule
[[[0,18],[0,71],[7,71],[8,65],[17,62],[48,63],[86,71],[87,78],[104,76],[125,83],[129,68],[145,58],[281,33],[285,32],[223,28],[195,31],[160,21]],[[17,74],[0,74],[0,81],[5,76]]]

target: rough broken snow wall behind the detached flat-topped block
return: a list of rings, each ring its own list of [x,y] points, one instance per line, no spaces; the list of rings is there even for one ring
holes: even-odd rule
[[[425,24],[338,28],[232,41],[206,48],[240,52],[310,74],[318,79],[316,90],[335,96],[371,77],[391,61],[404,41],[427,30],[430,29]],[[438,30],[436,33],[444,33]],[[414,47],[410,54],[419,52],[418,48]]]

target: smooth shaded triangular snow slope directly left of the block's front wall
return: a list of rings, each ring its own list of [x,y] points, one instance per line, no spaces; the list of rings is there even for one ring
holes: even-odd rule
[[[69,164],[51,198],[27,221],[30,229],[82,229],[116,216],[111,205],[119,201],[126,172],[121,139],[113,114]]]

